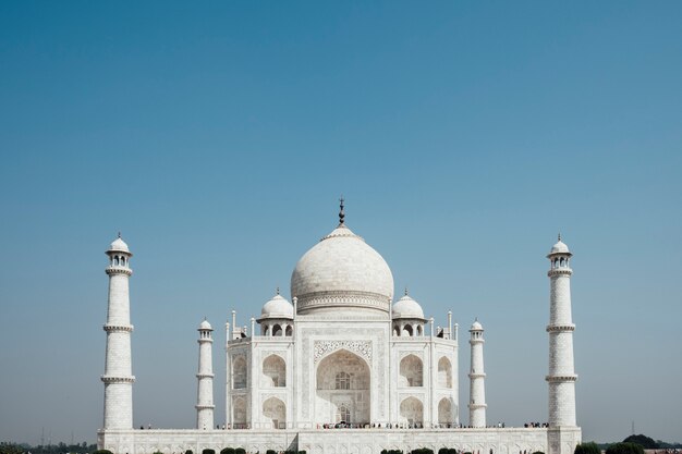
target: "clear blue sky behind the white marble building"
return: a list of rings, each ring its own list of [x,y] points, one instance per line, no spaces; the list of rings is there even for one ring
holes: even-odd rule
[[[665,1],[3,1],[0,440],[95,441],[119,230],[135,425],[194,424],[204,316],[222,420],[222,323],[289,287],[343,194],[398,292],[484,323],[509,426],[547,419],[561,231],[584,439],[682,441],[681,24]]]

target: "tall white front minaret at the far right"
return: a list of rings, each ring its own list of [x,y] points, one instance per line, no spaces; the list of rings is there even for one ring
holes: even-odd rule
[[[573,331],[571,319],[571,256],[569,246],[559,241],[547,255],[549,296],[549,427],[575,427],[575,380],[573,369]]]

